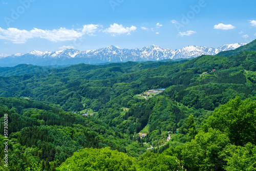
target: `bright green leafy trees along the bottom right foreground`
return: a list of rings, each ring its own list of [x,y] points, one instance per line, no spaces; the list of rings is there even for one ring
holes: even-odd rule
[[[237,97],[215,110],[200,131],[194,129],[190,115],[192,138],[161,154],[146,152],[131,158],[109,148],[85,148],[57,170],[255,170],[255,111],[255,101]]]

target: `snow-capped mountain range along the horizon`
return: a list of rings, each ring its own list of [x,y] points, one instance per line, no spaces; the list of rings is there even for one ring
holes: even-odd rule
[[[48,66],[193,58],[201,55],[216,55],[219,52],[233,50],[244,45],[246,44],[237,43],[223,45],[219,48],[187,46],[178,50],[163,49],[156,45],[136,49],[119,49],[115,46],[110,46],[90,51],[65,49],[56,52],[41,52],[34,50],[26,54],[0,54],[0,66],[14,66],[21,63]]]

